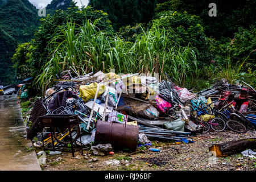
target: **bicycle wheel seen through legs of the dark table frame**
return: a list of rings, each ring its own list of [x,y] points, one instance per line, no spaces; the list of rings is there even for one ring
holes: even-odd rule
[[[79,138],[79,136],[80,136],[79,127],[73,127],[71,129],[71,133],[73,133],[73,131],[75,131],[74,132],[75,134],[72,134],[72,143],[75,142],[77,140],[77,138]],[[69,136],[70,136],[70,134],[69,134],[68,128],[55,127],[53,129],[53,137],[55,138],[56,142],[58,142],[58,143],[62,143],[62,144],[71,143]],[[68,140],[65,140],[66,137],[68,138]]]

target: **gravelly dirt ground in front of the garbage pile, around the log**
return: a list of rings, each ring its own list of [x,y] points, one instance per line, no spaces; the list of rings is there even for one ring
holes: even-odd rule
[[[248,131],[238,134],[233,131],[210,132],[198,134],[191,139],[195,143],[170,142],[167,140],[152,140],[152,148],[161,148],[162,152],[151,152],[148,148],[141,147],[141,153],[127,156],[127,152],[115,151],[114,155],[94,156],[92,151],[84,151],[82,156],[76,152],[72,158],[71,153],[47,155],[44,171],[55,170],[93,170],[93,171],[254,171],[256,158],[235,154],[225,158],[210,156],[208,148],[212,144],[223,143],[231,140],[255,137],[256,132]],[[86,158],[86,159],[85,159]],[[94,160],[93,160],[94,159]]]

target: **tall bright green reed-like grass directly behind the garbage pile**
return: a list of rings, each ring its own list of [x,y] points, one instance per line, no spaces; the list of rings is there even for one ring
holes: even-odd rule
[[[188,76],[199,77],[197,50],[191,45],[180,46],[174,41],[174,32],[160,28],[158,22],[137,35],[135,43],[107,36],[96,25],[97,20],[86,20],[78,31],[75,22],[67,22],[67,28],[60,28],[60,34],[48,44],[52,59],[37,79],[43,92],[58,72],[69,67],[76,67],[78,72],[81,68],[86,72],[115,69],[116,73],[159,73],[161,76],[166,72],[180,86],[184,86]]]

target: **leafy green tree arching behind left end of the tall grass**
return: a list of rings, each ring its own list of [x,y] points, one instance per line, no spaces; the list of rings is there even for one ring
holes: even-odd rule
[[[86,22],[86,19],[92,20],[92,22],[98,19],[97,27],[100,30],[112,34],[112,24],[108,18],[108,14],[100,10],[94,10],[92,7],[87,6],[83,9],[79,9],[72,3],[68,10],[56,10],[55,14],[47,15],[46,18],[40,19],[39,30],[35,32],[35,38],[31,40],[31,56],[29,57],[32,75],[36,76],[40,73],[44,64],[51,59],[49,53],[51,53],[51,47],[47,46],[54,36],[60,33],[60,29],[67,26],[67,22],[75,22],[76,28]],[[77,33],[77,32],[75,32]]]

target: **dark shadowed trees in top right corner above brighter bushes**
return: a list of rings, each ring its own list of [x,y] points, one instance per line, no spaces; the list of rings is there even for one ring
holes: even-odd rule
[[[256,22],[256,1],[216,0],[217,16],[208,15],[211,0],[169,0],[156,5],[155,13],[161,11],[179,11],[200,16],[203,20],[205,34],[220,39],[222,36],[232,38],[238,27],[249,28]]]

